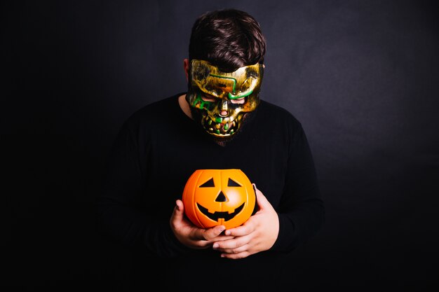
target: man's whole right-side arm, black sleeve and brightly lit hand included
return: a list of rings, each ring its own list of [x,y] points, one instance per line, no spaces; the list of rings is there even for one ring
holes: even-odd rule
[[[278,210],[255,187],[259,210],[238,228],[226,230],[235,238],[213,247],[225,258],[245,258],[260,251],[289,252],[310,239],[324,221],[323,201],[308,141],[298,124],[292,134],[285,187]]]

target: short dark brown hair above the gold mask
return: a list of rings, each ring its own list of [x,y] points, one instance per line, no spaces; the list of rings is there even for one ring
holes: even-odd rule
[[[259,23],[236,9],[211,11],[195,22],[189,41],[189,60],[210,62],[223,71],[263,64],[266,42]]]

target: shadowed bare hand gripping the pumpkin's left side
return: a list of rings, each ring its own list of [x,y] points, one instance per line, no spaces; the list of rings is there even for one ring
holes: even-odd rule
[[[170,228],[175,237],[191,249],[208,249],[217,240],[227,240],[233,236],[221,235],[226,227],[217,225],[209,229],[198,228],[184,217],[184,205],[182,200],[175,202],[173,215],[170,217]]]

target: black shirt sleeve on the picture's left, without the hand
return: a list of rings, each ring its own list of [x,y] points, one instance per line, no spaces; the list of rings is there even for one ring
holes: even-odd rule
[[[138,208],[139,198],[147,190],[137,132],[136,123],[124,123],[109,153],[97,199],[97,230],[128,248],[168,258],[178,256],[190,249],[177,240],[169,221],[151,221]]]

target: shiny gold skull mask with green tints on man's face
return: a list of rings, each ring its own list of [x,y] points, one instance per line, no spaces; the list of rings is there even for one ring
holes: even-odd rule
[[[201,115],[201,125],[215,137],[235,134],[245,113],[255,111],[264,67],[254,64],[233,72],[204,60],[191,60],[187,102]]]

